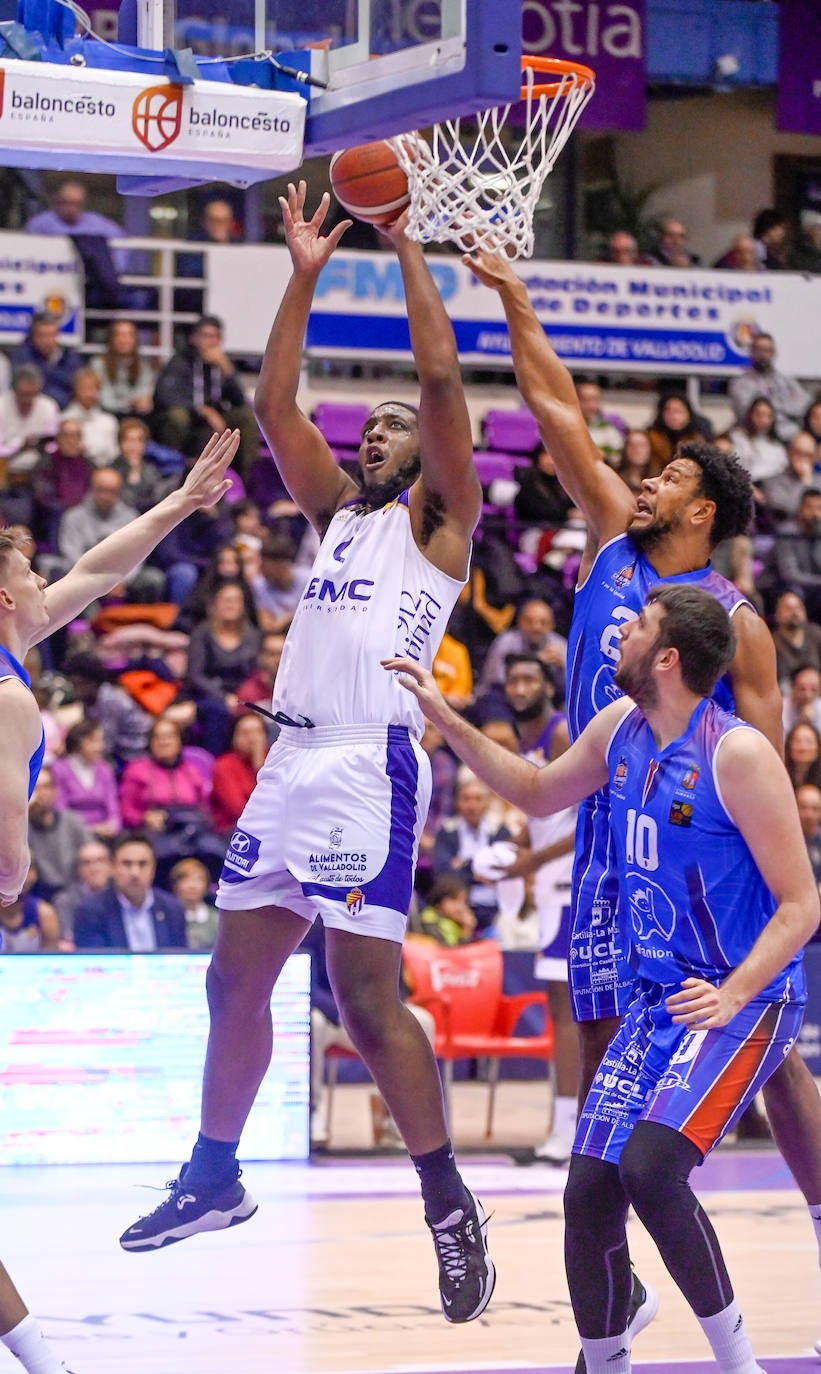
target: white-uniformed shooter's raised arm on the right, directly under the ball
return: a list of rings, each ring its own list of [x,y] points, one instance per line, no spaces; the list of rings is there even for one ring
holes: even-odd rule
[[[446,573],[464,577],[465,544],[482,511],[482,486],[474,467],[471,419],[453,326],[421,246],[405,235],[405,216],[383,234],[393,243],[402,269],[410,349],[421,393],[421,484],[410,493],[413,530],[421,544],[426,508],[432,497],[443,522],[426,540],[426,552]]]

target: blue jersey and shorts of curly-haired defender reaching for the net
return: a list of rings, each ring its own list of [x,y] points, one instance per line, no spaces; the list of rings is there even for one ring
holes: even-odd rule
[[[675,577],[659,577],[627,534],[599,550],[585,583],[577,587],[567,649],[567,725],[571,741],[604,706],[622,695],[614,683],[621,627],[634,620],[656,583],[680,583],[710,592],[733,616],[750,606],[737,587],[710,566]],[[715,688],[719,705],[732,710],[726,677]],[[634,973],[623,948],[618,919],[618,872],[610,827],[607,787],[579,807],[573,867],[573,933],[570,987],[577,1021],[621,1017],[630,1000]]]

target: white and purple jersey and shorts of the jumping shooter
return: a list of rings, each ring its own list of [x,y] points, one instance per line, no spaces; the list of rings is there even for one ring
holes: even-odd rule
[[[419,703],[380,660],[431,668],[463,585],[417,547],[408,492],[336,511],[276,677],[291,724],[228,842],[218,907],[404,938],[431,774]]]

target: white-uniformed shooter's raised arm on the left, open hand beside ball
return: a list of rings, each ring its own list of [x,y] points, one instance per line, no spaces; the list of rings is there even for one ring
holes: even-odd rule
[[[280,195],[292,273],[265,348],[254,396],[257,419],[288,492],[310,523],[324,534],[334,511],[357,493],[356,482],[339,467],[328,444],[297,405],[305,331],[321,269],[350,225],[343,220],[329,234],[321,227],[331,203],[323,195],[313,218],[305,218],[305,181],[288,183]]]

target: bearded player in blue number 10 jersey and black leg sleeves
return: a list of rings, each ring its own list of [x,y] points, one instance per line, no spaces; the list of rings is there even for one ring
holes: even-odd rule
[[[818,890],[778,754],[710,697],[736,651],[721,603],[697,587],[659,585],[619,642],[615,684],[629,695],[545,768],[456,716],[417,664],[384,666],[467,765],[527,815],[610,785],[637,981],[582,1107],[564,1194],[588,1374],[630,1370],[630,1204],[718,1370],[761,1374],[689,1175],[795,1044]]]

